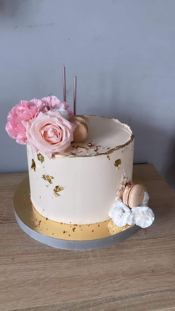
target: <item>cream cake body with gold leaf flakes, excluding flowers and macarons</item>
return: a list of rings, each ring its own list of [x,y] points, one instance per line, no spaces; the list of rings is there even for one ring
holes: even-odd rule
[[[53,221],[83,225],[108,220],[109,207],[120,197],[122,185],[132,181],[130,127],[116,119],[86,117],[87,138],[72,142],[62,154],[49,159],[27,145],[31,201],[39,214]]]

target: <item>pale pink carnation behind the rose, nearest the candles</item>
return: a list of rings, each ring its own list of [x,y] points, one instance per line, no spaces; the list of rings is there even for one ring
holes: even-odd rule
[[[41,98],[42,102],[46,104],[48,110],[50,109],[65,109],[68,113],[68,118],[73,115],[73,112],[70,109],[70,106],[62,100],[59,100],[56,96],[48,96]]]

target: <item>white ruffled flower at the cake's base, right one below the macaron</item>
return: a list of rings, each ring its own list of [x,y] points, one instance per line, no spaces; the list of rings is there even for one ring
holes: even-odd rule
[[[131,209],[132,221],[141,228],[149,227],[154,221],[154,213],[147,206],[137,206]]]

